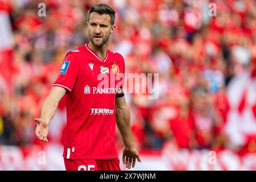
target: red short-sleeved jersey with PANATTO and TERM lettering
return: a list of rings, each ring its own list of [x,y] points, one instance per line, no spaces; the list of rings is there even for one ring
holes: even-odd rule
[[[117,158],[115,146],[115,97],[123,96],[120,84],[123,57],[107,51],[101,59],[88,43],[65,56],[53,86],[67,90],[67,159]]]

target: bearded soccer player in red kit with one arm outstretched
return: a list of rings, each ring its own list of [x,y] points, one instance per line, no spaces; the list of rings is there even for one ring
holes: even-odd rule
[[[49,124],[59,101],[67,94],[68,129],[63,152],[67,170],[120,170],[115,123],[125,146],[123,164],[130,169],[136,160],[141,162],[131,134],[129,107],[122,85],[115,79],[125,72],[125,63],[119,53],[108,50],[114,20],[115,11],[108,5],[90,8],[87,21],[90,41],[67,53],[59,77],[44,101],[41,118],[35,118],[36,137],[48,142]]]

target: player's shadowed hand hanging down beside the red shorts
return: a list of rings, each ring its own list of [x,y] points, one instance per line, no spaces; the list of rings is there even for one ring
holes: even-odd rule
[[[123,148],[123,164],[125,164],[127,168],[130,169],[131,166],[134,168],[136,159],[138,159],[138,162],[141,162],[141,157],[139,156],[139,152],[134,147]]]

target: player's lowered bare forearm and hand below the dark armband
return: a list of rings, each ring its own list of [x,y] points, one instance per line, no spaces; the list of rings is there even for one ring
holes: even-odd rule
[[[130,110],[126,104],[124,96],[115,98],[115,118],[123,144],[125,145],[122,156],[123,164],[130,169],[131,166],[135,166],[136,159],[141,162],[141,158],[134,147],[133,135],[131,134],[130,127]]]

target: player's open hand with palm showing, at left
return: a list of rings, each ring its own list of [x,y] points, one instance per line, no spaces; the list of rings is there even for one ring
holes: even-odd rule
[[[34,120],[35,122],[38,123],[38,126],[36,126],[36,131],[35,131],[36,137],[39,140],[42,140],[43,142],[48,142],[47,135],[48,135],[49,127],[47,122],[40,118],[35,118]]]

